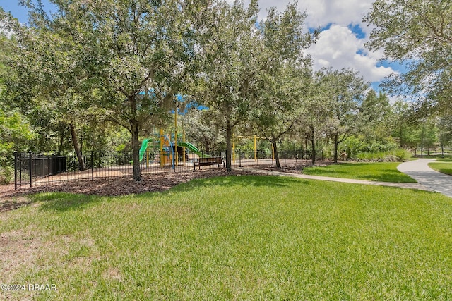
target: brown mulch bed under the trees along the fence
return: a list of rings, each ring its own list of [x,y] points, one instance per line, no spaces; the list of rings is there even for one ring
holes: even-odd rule
[[[93,181],[71,181],[64,183],[47,183],[32,188],[19,188],[14,185],[0,185],[0,212],[9,211],[30,204],[26,196],[39,192],[71,192],[83,195],[130,195],[143,192],[157,192],[169,190],[175,185],[186,183],[196,178],[210,178],[215,176],[241,176],[258,174],[251,171],[233,170],[227,173],[225,168],[209,168],[201,171],[187,171],[184,173],[145,174],[141,182],[131,178],[117,177],[95,179]]]

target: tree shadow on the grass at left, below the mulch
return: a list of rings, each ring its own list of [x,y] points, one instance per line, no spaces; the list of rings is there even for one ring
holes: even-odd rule
[[[88,204],[100,202],[102,197],[67,192],[39,193],[30,197],[32,202],[40,202],[40,210],[71,211],[85,209]]]

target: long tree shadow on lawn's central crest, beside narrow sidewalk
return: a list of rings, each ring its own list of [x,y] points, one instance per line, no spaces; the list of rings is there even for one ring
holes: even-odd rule
[[[222,186],[222,187],[275,187],[282,188],[295,184],[308,185],[308,180],[299,178],[291,178],[286,176],[219,176],[213,178],[204,178],[191,180],[172,188],[172,191],[189,191],[196,190],[203,186]]]

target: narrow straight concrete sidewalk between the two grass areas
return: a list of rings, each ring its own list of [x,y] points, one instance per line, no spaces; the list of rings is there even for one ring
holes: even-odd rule
[[[265,171],[262,169],[249,168],[249,167],[239,167],[237,169],[243,170],[243,171],[250,171],[250,172],[254,172],[254,173],[257,172],[257,173],[261,173],[263,175],[269,175],[269,176],[286,176],[286,177],[302,178],[302,179],[309,179],[309,180],[327,180],[327,181],[340,182],[340,183],[354,183],[354,184],[364,184],[364,185],[379,185],[379,186],[391,186],[391,187],[398,187],[398,188],[410,188],[410,189],[417,189],[417,190],[431,190],[420,183],[391,183],[391,182],[376,182],[376,181],[371,181],[371,180],[355,180],[355,179],[347,179],[347,178],[310,176],[310,175],[303,175],[300,173],[283,173],[280,171]]]

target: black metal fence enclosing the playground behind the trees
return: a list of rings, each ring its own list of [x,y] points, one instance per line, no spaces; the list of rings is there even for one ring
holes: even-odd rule
[[[293,164],[311,160],[311,152],[278,152],[281,164]],[[323,159],[316,154],[316,159]],[[197,169],[225,166],[226,152],[159,152],[148,150],[141,156],[141,174],[196,171]],[[22,186],[59,183],[95,178],[129,177],[133,175],[131,152],[88,152],[75,154],[37,154],[32,152],[14,154],[14,185]],[[272,152],[236,151],[232,154],[232,166],[275,164]]]

